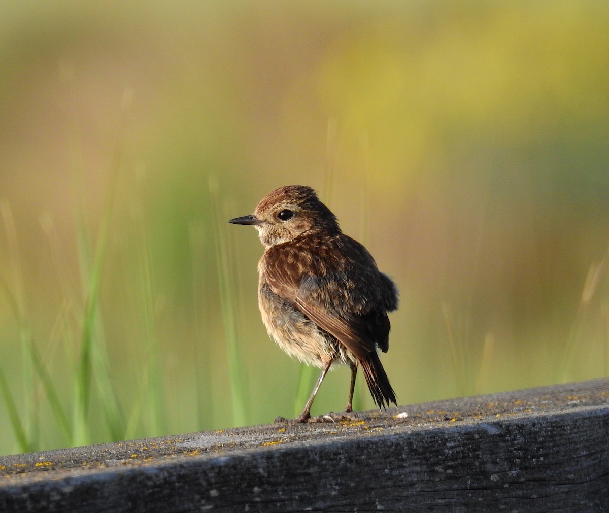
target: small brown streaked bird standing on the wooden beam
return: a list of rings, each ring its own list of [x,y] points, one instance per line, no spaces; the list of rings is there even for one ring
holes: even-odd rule
[[[376,348],[389,348],[388,311],[398,308],[395,283],[364,246],[340,231],[336,216],[310,187],[267,194],[249,216],[266,248],[258,263],[258,306],[269,336],[290,356],[320,367],[296,422],[306,422],[323,378],[334,363],[351,367],[345,412],[352,411],[357,365],[379,408],[396,404]]]

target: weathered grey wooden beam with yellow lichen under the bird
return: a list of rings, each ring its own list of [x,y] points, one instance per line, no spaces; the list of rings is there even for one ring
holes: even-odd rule
[[[609,379],[3,456],[0,473],[3,512],[609,511]]]

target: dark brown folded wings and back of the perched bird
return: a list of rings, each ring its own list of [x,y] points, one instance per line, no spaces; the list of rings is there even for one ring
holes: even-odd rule
[[[385,310],[392,305],[383,296],[397,302],[393,283],[378,272],[364,247],[347,236],[341,235],[329,248],[323,241],[308,242],[270,250],[273,254],[267,255],[265,278],[272,291],[293,303],[357,358],[368,358],[375,345],[387,351],[390,324]],[[342,258],[345,249],[355,258]],[[389,280],[392,288],[379,291],[371,280],[382,285],[382,280]]]

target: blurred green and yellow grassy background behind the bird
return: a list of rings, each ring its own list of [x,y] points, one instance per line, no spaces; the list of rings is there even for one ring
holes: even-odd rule
[[[608,375],[608,4],[5,0],[0,26],[0,453],[301,408],[226,222],[281,185],[400,286],[401,404]]]

